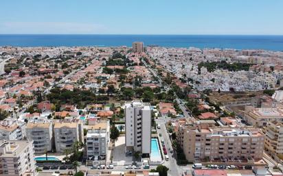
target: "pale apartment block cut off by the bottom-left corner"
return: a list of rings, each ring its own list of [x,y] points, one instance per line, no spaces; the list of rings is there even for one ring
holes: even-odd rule
[[[34,176],[34,148],[30,140],[0,141],[0,176]]]

